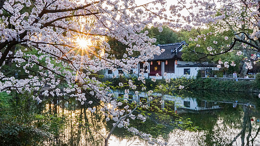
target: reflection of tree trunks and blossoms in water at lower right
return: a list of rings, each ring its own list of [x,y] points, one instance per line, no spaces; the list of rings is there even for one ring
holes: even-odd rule
[[[222,105],[222,107],[222,111],[213,119],[200,116],[195,120],[197,123],[194,124],[203,129],[199,133],[198,144],[201,146],[253,145],[260,132],[259,126],[251,122],[252,116],[259,115],[254,113],[256,109],[245,105],[238,106],[236,109],[232,109],[231,106]],[[211,117],[209,114],[202,115]]]

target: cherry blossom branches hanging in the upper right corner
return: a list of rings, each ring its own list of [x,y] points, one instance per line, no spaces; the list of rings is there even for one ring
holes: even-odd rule
[[[212,45],[203,46],[207,48],[207,52],[196,52],[194,48],[190,50],[202,55],[201,58],[229,52],[234,52],[237,55],[243,54],[245,58],[243,60],[242,76],[247,69],[252,69],[252,63],[259,61],[260,58],[256,56],[260,52],[259,0],[192,0],[189,4],[186,0],[180,0],[179,2],[180,5],[172,6],[172,11],[176,12],[176,10],[185,9],[190,15],[178,15],[178,17],[192,23],[193,27],[205,28],[210,26],[214,30],[214,32],[200,34],[191,38],[193,42],[196,43],[197,41],[197,48],[204,45],[203,41],[210,41]],[[197,11],[194,11],[195,9]],[[229,32],[226,34],[231,33],[231,35],[225,36],[225,32]],[[215,40],[212,38],[215,38]],[[218,42],[217,40],[221,41]],[[234,61],[227,62],[223,67],[229,65],[234,66]]]

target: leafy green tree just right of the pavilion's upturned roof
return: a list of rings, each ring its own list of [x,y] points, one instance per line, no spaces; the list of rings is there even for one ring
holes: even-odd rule
[[[219,31],[218,28],[209,26],[208,29],[192,29],[190,32],[186,30],[181,30],[180,35],[183,40],[185,40],[189,45],[183,47],[182,59],[184,61],[208,61],[217,62],[221,58],[221,61],[228,61],[229,64],[234,61],[236,66],[230,66],[225,70],[230,73],[238,71],[240,66],[240,60],[242,56],[235,55],[236,51],[227,52],[221,55],[209,55],[209,54],[220,54],[223,52],[224,48],[228,48],[231,44],[232,39],[225,40],[224,37],[233,37],[233,32],[230,30]],[[190,40],[192,38],[193,40]],[[196,41],[195,41],[196,40]],[[214,43],[217,41],[218,43]],[[214,49],[210,51],[209,48]],[[208,55],[208,56],[207,56]],[[202,59],[201,59],[202,58]]]

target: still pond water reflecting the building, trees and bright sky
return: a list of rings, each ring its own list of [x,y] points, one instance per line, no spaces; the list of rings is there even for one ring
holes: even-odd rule
[[[133,120],[131,126],[150,133],[164,146],[260,146],[258,94],[191,91],[163,100],[151,103],[151,111],[137,111],[148,118],[146,122]],[[64,107],[59,112],[67,118],[56,138],[58,145],[104,145],[103,136],[109,133],[113,122],[104,120],[98,105],[94,113],[88,107]],[[123,128],[116,128],[109,146],[150,144]]]

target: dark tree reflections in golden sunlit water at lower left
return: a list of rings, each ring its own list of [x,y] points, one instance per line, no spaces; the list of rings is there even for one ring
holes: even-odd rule
[[[104,128],[104,116],[96,107],[97,111],[92,113],[85,106],[69,103],[68,109],[58,108],[59,116],[66,117],[60,121],[64,127],[59,128],[56,144],[57,146],[100,146],[104,138],[101,136]]]

